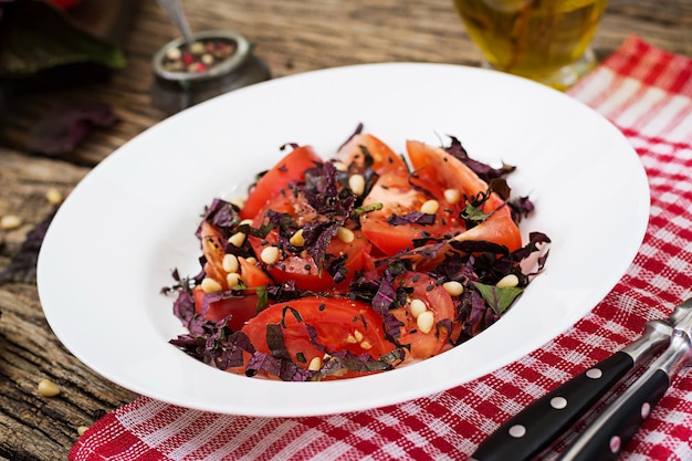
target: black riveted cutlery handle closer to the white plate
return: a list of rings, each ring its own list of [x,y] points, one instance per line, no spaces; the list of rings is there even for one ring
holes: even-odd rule
[[[617,352],[537,399],[481,443],[470,460],[530,460],[579,420],[635,366]]]

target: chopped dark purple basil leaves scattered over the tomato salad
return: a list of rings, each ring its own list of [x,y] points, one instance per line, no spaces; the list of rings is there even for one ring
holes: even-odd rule
[[[363,125],[359,125],[354,134],[361,133]],[[465,197],[466,207],[459,218],[466,222],[466,228],[473,228],[486,220],[492,213],[482,211],[483,205],[491,197],[491,192],[497,193],[505,205],[510,207],[515,222],[525,218],[534,211],[534,205],[527,197],[511,198],[504,177],[514,170],[514,167],[503,165],[501,168],[492,168],[489,165],[473,160],[459,139],[450,137],[451,144],[445,148],[448,153],[463,161],[479,177],[489,184],[489,189],[480,191],[474,197]],[[297,147],[287,144],[283,147]],[[373,171],[374,158],[367,148],[361,146],[363,165],[349,166],[356,168],[366,178],[366,193],[377,181],[378,176]],[[411,188],[421,190],[417,185],[417,176],[412,172],[409,178]],[[240,224],[239,209],[220,199],[214,199],[205,209],[203,219],[218,229],[228,238],[233,232],[244,232],[258,238],[265,238],[271,231],[277,230],[279,245],[284,252],[293,254],[307,254],[315,262],[319,271],[326,270],[336,283],[339,283],[348,275],[353,275],[348,286],[348,295],[352,300],[364,301],[382,317],[382,324],[378,325],[385,331],[385,336],[390,340],[396,349],[382,357],[376,358],[368,354],[356,355],[348,350],[329,350],[319,343],[317,328],[314,325],[304,323],[314,347],[324,352],[322,367],[318,370],[305,369],[307,362],[303,353],[295,353],[292,357],[284,342],[283,329],[285,328],[286,316],[293,316],[297,322],[303,322],[301,314],[290,305],[286,305],[282,313],[282,321],[277,324],[268,324],[265,331],[266,344],[270,354],[258,352],[251,344],[249,337],[242,332],[231,331],[227,323],[230,317],[219,322],[205,321],[205,313],[209,304],[216,301],[234,296],[242,296],[242,291],[222,291],[203,296],[201,314],[196,313],[192,289],[201,283],[203,272],[195,277],[180,277],[174,271],[176,284],[164,289],[164,293],[177,293],[174,302],[174,313],[188,328],[188,334],[180,335],[170,343],[185,350],[192,357],[216,366],[220,369],[229,367],[240,367],[245,362],[245,374],[254,376],[263,373],[279,377],[286,381],[308,381],[321,380],[329,376],[343,376],[346,373],[376,373],[394,368],[406,357],[408,346],[402,346],[398,338],[401,336],[400,322],[394,314],[394,310],[407,303],[413,287],[395,285],[395,280],[407,271],[416,271],[418,268],[426,268],[424,272],[433,277],[437,284],[447,281],[460,282],[464,290],[462,294],[453,300],[455,306],[454,322],[461,323],[461,329],[453,328],[449,318],[436,323],[437,331],[457,331],[457,337],[450,337],[452,346],[475,336],[496,322],[511,306],[516,298],[522,295],[531,280],[541,273],[545,266],[548,252],[543,252],[545,244],[551,240],[541,232],[532,232],[528,242],[521,249],[510,252],[504,245],[486,241],[457,241],[453,235],[424,237],[416,239],[412,248],[402,250],[396,255],[379,258],[374,261],[378,272],[358,272],[348,274],[344,265],[346,255],[328,254],[327,249],[338,229],[343,226],[350,228],[359,227],[359,219],[363,213],[370,209],[379,208],[376,205],[363,206],[363,197],[355,196],[348,188],[348,174],[338,171],[333,161],[316,164],[305,171],[305,181],[294,185],[290,191],[302,199],[306,207],[314,211],[315,218],[302,226],[289,213],[269,210],[263,217],[263,223],[259,228],[248,224]],[[302,197],[300,196],[302,195]],[[392,214],[388,218],[388,223],[396,228],[417,223],[421,226],[434,224],[434,214],[426,214],[419,211],[409,212],[402,216]],[[304,245],[295,247],[291,244],[291,237],[298,229],[302,229]],[[396,232],[396,229],[392,229]],[[198,230],[198,237],[200,231]],[[247,245],[244,250],[251,251]],[[532,258],[534,270],[531,273],[522,272],[522,262]],[[203,264],[203,258],[200,259]],[[496,283],[507,274],[515,274],[518,279],[517,286],[497,287]],[[265,306],[280,302],[289,302],[313,293],[296,289],[293,281],[281,285],[270,285],[256,290],[260,300],[258,311]],[[248,354],[251,355],[247,360]]]

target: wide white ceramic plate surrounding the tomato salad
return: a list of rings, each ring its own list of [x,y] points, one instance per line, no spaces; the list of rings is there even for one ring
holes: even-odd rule
[[[402,153],[407,138],[458,136],[481,160],[516,165],[514,195],[537,207],[523,230],[553,239],[545,272],[478,337],[413,366],[329,383],[251,379],[168,344],[184,333],[170,273],[195,274],[205,205],[241,195],[285,143],[329,156],[363,122]],[[445,139],[447,140],[447,139]],[[617,203],[614,206],[614,202]],[[586,315],[633,259],[649,189],[623,136],[570,97],[492,71],[373,64],[284,77],[154,126],[98,165],[61,207],[39,260],[48,321],[96,373],[185,407],[254,416],[359,410],[430,395],[493,371]]]

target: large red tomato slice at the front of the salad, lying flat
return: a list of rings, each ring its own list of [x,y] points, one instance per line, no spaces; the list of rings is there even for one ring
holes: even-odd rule
[[[266,325],[279,324],[291,359],[307,369],[315,357],[323,359],[325,350],[311,340],[307,327],[315,328],[316,343],[326,353],[350,350],[379,358],[395,349],[385,338],[382,318],[363,302],[346,297],[312,296],[274,304],[260,312],[242,328],[255,349],[271,354],[266,344]],[[353,376],[353,375],[347,375]]]

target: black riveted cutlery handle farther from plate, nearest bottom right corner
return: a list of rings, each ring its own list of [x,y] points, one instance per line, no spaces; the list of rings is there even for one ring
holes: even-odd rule
[[[597,430],[577,440],[565,451],[560,461],[606,461],[615,460],[637,433],[668,390],[670,378],[662,369],[657,369],[637,383],[637,389],[622,405],[604,418]]]

